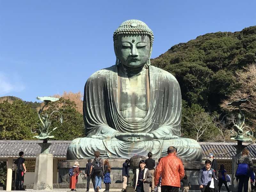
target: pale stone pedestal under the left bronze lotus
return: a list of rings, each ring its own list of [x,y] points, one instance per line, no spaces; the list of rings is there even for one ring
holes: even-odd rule
[[[52,154],[38,154],[36,156],[34,190],[52,190],[52,169]]]

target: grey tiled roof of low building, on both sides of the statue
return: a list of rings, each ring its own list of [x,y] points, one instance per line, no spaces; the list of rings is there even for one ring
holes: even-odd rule
[[[68,145],[71,141],[51,140],[52,143],[49,152],[53,157],[66,158]],[[0,140],[0,158],[3,157],[18,157],[19,152],[23,151],[26,157],[36,157],[36,154],[41,152],[41,147],[37,143],[42,143],[40,140]],[[224,142],[199,142],[203,158],[208,158],[210,153],[213,153],[217,159],[231,159],[236,154],[236,143]],[[252,159],[256,159],[256,144],[247,147],[250,151]]]

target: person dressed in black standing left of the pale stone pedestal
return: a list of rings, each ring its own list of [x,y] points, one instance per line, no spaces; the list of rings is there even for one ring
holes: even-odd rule
[[[27,169],[25,166],[25,159],[23,158],[24,152],[20,151],[19,156],[20,157],[14,161],[14,164],[17,165],[15,188],[16,188],[16,190],[23,191],[23,190],[25,190],[23,187],[24,174],[27,172]]]

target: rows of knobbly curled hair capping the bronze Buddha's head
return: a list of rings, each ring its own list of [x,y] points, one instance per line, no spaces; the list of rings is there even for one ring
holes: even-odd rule
[[[115,31],[114,31],[114,44],[117,43],[117,36],[120,34],[127,35],[147,35],[150,39],[150,45],[153,45],[154,34],[153,31],[146,25],[146,23],[140,20],[127,20],[124,21]]]

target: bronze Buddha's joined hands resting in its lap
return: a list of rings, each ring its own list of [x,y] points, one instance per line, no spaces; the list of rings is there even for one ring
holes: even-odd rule
[[[116,133],[116,139],[125,142],[141,142],[154,139],[152,133]]]

